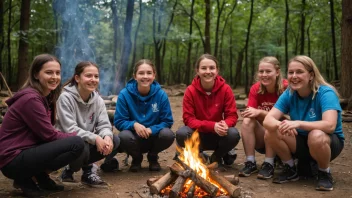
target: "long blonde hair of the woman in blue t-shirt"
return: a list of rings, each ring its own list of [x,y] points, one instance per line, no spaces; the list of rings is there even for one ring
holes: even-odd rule
[[[320,74],[318,67],[315,65],[314,61],[311,58],[309,58],[308,56],[299,55],[299,56],[293,57],[288,62],[288,65],[290,66],[290,63],[292,63],[292,62],[301,63],[308,72],[312,72],[314,74],[313,80],[311,80],[309,83],[310,88],[313,91],[313,98],[312,99],[314,99],[315,95],[317,94],[320,85],[326,85],[326,86],[331,87],[335,91],[337,97],[340,97],[340,94],[338,93],[336,88],[325,81],[323,76]]]

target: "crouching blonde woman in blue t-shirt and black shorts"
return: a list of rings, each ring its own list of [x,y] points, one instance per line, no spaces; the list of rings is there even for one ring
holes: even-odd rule
[[[274,183],[299,179],[299,166],[318,165],[317,190],[333,190],[329,163],[344,147],[341,107],[336,89],[321,76],[313,60],[296,56],[288,65],[289,88],[280,96],[264,120],[266,144],[284,162]],[[291,120],[280,121],[288,113]]]

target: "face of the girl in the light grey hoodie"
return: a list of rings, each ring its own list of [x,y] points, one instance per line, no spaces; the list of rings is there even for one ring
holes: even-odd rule
[[[92,93],[99,85],[99,70],[93,65],[84,68],[80,75],[75,75],[78,90]]]

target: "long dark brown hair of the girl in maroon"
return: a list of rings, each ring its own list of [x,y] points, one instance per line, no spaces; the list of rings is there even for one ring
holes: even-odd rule
[[[21,89],[31,87],[35,90],[37,90],[41,95],[44,96],[43,88],[42,85],[40,84],[39,80],[35,78],[35,76],[38,75],[40,70],[42,70],[43,65],[47,62],[50,61],[55,61],[58,62],[61,68],[61,63],[59,59],[57,59],[55,56],[50,55],[50,54],[40,54],[36,57],[34,57],[33,62],[29,68],[29,76],[22,86]],[[61,86],[60,84],[50,92],[50,94],[47,96],[47,101],[49,103],[49,108],[51,109],[51,123],[55,124],[55,115],[56,115],[56,101],[59,98],[61,91]]]

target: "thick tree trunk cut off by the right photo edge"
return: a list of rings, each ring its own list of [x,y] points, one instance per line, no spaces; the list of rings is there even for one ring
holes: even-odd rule
[[[352,1],[342,0],[341,27],[341,95],[349,99],[348,110],[352,110]]]

